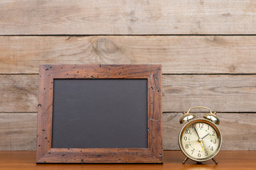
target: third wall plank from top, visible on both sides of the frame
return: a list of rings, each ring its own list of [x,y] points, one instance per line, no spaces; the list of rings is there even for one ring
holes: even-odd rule
[[[164,75],[163,111],[255,112],[256,75]],[[0,75],[0,112],[36,112],[38,75]]]

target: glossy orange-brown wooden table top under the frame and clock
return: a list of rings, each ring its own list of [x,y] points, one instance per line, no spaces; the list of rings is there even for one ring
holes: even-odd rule
[[[0,169],[256,169],[256,151],[220,151],[215,157],[219,164],[212,160],[195,164],[184,159],[181,151],[165,151],[164,164],[36,164],[36,151],[1,151]]]

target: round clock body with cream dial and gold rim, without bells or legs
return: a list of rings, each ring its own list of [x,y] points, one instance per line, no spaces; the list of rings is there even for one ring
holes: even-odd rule
[[[218,153],[222,138],[217,126],[208,120],[198,119],[183,127],[178,143],[187,157],[204,162]]]

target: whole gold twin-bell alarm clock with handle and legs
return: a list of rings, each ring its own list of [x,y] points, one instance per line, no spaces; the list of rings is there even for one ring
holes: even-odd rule
[[[203,115],[203,118],[196,118],[196,115],[189,113],[193,108],[205,108],[210,113]],[[223,138],[218,128],[220,120],[216,113],[212,113],[210,108],[197,106],[189,108],[188,112],[184,112],[180,123],[186,123],[178,135],[178,145],[181,152],[186,156],[183,164],[189,159],[201,164],[209,159],[213,159],[215,164],[218,164],[214,158],[220,151]]]

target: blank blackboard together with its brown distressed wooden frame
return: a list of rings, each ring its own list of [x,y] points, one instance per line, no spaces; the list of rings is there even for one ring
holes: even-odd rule
[[[41,65],[36,163],[163,162],[161,65]]]

